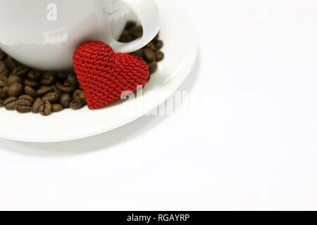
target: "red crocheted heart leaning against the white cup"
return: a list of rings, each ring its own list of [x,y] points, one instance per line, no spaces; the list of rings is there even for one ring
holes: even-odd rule
[[[101,41],[78,46],[73,65],[90,109],[118,100],[123,91],[137,91],[137,86],[144,86],[149,79],[149,68],[142,58],[114,53]]]

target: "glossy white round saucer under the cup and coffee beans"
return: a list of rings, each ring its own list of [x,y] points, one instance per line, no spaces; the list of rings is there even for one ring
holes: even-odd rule
[[[156,0],[161,13],[165,58],[151,75],[143,95],[118,101],[100,110],[63,110],[48,117],[0,109],[0,137],[15,141],[57,142],[82,139],[123,126],[148,113],[184,82],[197,56],[197,33],[189,16],[175,0]],[[137,110],[136,110],[137,109]]]

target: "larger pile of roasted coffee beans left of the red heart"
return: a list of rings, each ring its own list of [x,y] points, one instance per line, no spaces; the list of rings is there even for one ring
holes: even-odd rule
[[[32,70],[0,51],[0,105],[19,113],[50,115],[86,105],[75,73]]]

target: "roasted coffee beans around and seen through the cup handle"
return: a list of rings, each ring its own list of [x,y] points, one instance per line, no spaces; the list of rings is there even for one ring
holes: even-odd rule
[[[135,22],[130,21],[127,25],[125,25],[125,30],[119,40],[121,42],[130,42],[142,37],[142,35],[142,26],[137,26]],[[156,37],[147,44],[147,46],[143,49],[132,52],[131,54],[139,56],[147,62],[147,65],[149,66],[149,73],[151,75],[157,70],[157,63],[164,58],[164,53],[161,51],[162,47],[163,41],[159,39],[159,34],[157,34]]]

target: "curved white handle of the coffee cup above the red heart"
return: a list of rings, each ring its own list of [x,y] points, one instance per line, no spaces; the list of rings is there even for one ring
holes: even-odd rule
[[[122,43],[113,39],[111,47],[116,52],[131,53],[142,49],[154,39],[160,29],[159,9],[154,0],[120,0],[130,6],[143,27],[143,36],[135,41]]]

